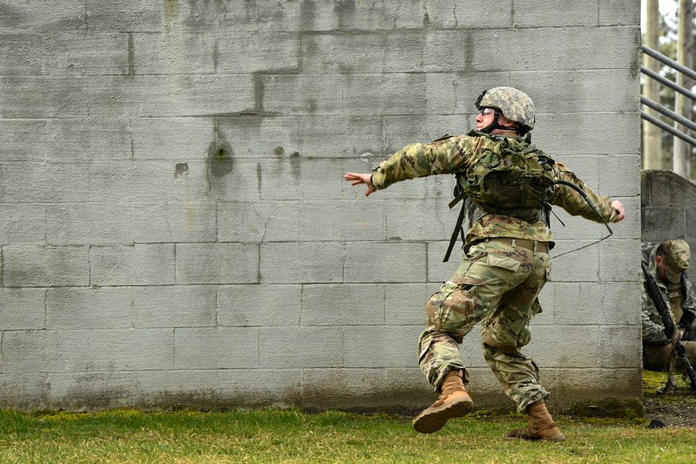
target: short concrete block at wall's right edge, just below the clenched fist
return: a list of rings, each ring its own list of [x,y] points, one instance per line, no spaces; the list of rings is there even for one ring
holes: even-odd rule
[[[635,282],[640,272],[640,240],[609,239],[599,244],[602,282]]]

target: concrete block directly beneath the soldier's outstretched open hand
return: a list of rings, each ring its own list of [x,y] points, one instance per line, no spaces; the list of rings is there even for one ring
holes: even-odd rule
[[[343,200],[302,202],[303,241],[383,240],[383,202]]]

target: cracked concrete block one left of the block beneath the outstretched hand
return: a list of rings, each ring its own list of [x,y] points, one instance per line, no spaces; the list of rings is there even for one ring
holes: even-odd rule
[[[219,241],[261,243],[301,237],[299,201],[218,202],[217,208]]]

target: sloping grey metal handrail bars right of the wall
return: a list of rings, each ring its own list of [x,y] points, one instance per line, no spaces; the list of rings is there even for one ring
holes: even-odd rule
[[[641,45],[640,49],[642,52],[648,56],[651,56],[652,58],[655,58],[657,61],[663,63],[664,65],[667,65],[671,67],[673,70],[677,72],[681,72],[682,74],[686,74],[686,76],[690,77],[691,79],[694,79],[696,81],[696,72],[693,70],[690,70],[688,67],[681,65],[680,63],[677,63],[677,61],[672,60],[671,58],[668,58],[667,56],[661,54],[659,51],[656,51],[654,49],[651,49],[647,45]],[[682,95],[685,95],[686,97],[692,99],[693,101],[696,102],[696,93],[691,92],[690,90],[683,88],[682,86],[679,86],[679,84],[674,83],[670,81],[670,79],[667,79],[660,74],[657,74],[654,71],[649,70],[647,67],[641,66],[640,67],[640,72],[651,79],[655,79],[659,83],[662,83],[663,85],[672,88],[673,90],[681,93]],[[661,113],[667,118],[670,118],[671,120],[674,120],[678,122],[679,124],[688,127],[689,129],[696,131],[696,123],[688,120],[687,118],[684,118],[682,115],[679,113],[674,113],[674,111],[665,108],[665,106],[662,106],[661,104],[658,104],[651,99],[640,96],[640,103],[644,104],[645,106],[654,109],[655,111],[658,111],[658,113]],[[654,118],[653,116],[645,113],[644,111],[640,112],[640,118],[646,120],[647,122],[650,122],[653,125],[656,125],[663,131],[667,131],[673,136],[677,138],[681,138],[681,140],[685,141],[689,145],[692,145],[696,147],[696,138],[693,138],[689,136],[688,134],[684,134],[682,131],[679,131],[675,129],[674,127],[671,127],[670,125],[665,124],[658,118]]]

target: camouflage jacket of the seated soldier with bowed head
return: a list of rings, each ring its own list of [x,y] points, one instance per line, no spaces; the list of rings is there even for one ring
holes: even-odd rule
[[[642,260],[648,266],[648,271],[655,276],[658,287],[660,287],[660,293],[667,307],[670,307],[670,297],[667,295],[667,287],[665,284],[658,279],[657,275],[657,265],[655,264],[655,255],[657,253],[658,244],[653,243],[643,243],[642,244]],[[681,303],[681,309],[686,312],[691,312],[693,317],[684,318],[682,316],[681,320],[691,319],[688,326],[684,326],[680,323],[679,326],[686,330],[693,332],[696,330],[696,299],[694,298],[693,287],[689,281],[686,271],[681,273],[681,280],[684,285],[684,301]],[[642,311],[640,314],[640,322],[642,325],[643,332],[643,343],[649,345],[666,345],[670,343],[670,339],[667,339],[665,335],[665,325],[662,321],[662,317],[655,306],[655,303],[651,300],[645,287],[642,287]]]

